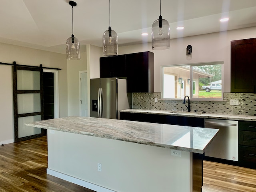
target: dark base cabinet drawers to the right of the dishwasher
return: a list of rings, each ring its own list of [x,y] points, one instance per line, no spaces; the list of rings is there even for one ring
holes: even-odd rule
[[[238,122],[238,161],[256,169],[256,122]]]

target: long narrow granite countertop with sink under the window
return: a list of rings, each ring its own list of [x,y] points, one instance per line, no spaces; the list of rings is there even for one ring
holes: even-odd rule
[[[126,113],[145,113],[145,114],[162,114],[172,116],[190,116],[200,118],[212,118],[212,119],[226,119],[226,120],[245,120],[256,121],[256,116],[251,115],[233,115],[233,114],[218,114],[218,113],[196,113],[196,112],[181,112],[170,110],[147,110],[147,109],[125,109],[120,112]]]

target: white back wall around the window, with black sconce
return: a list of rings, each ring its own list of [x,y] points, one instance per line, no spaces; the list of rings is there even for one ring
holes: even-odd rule
[[[230,41],[255,37],[256,27],[252,27],[171,39],[170,49],[162,51],[152,50],[151,43],[119,46],[118,54],[154,52],[154,92],[161,92],[161,66],[224,61],[223,92],[230,92]],[[185,50],[188,45],[192,46],[192,57],[187,58]]]

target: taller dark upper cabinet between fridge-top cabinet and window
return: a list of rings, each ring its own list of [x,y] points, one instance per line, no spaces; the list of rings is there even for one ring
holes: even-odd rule
[[[154,92],[154,53],[126,54],[127,92]]]

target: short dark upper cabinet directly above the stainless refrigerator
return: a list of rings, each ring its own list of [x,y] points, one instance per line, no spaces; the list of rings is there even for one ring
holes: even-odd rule
[[[100,78],[126,78],[125,55],[101,57]]]

